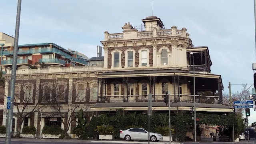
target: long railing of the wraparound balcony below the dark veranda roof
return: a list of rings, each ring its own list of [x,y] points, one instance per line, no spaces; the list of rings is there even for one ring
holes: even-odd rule
[[[164,102],[164,94],[161,95],[152,95],[153,102]],[[99,96],[99,102],[148,102],[148,95],[108,95],[108,96]],[[194,95],[184,95],[181,94],[180,98],[178,95],[174,98],[174,94],[170,95],[170,102],[194,102]],[[199,96],[196,95],[196,103],[204,104],[218,104],[219,96]]]

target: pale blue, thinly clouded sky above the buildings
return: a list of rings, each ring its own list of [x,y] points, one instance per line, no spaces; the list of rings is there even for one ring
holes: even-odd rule
[[[122,32],[152,16],[152,0],[22,0],[19,44],[53,42],[89,58],[104,32]],[[15,34],[17,0],[1,1],[0,32]],[[254,0],[155,0],[154,16],[170,29],[183,27],[194,46],[208,46],[211,73],[220,74],[224,92],[231,84],[253,84],[256,62]],[[103,52],[102,52],[103,53]],[[253,86],[252,86],[253,87]],[[252,88],[251,87],[251,88]],[[232,92],[242,89],[232,85]],[[256,122],[253,109],[249,124]]]

